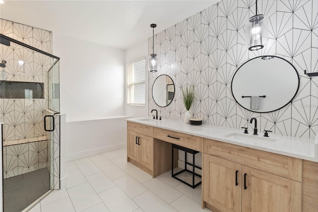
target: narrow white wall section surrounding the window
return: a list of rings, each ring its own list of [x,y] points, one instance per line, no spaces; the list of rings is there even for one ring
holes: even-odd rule
[[[145,106],[129,106],[127,105],[127,84],[125,85],[125,112],[126,115],[130,115],[133,117],[140,116],[148,116],[148,40],[145,40],[129,49],[126,50],[126,63],[136,60],[141,57],[146,57],[146,98],[145,98]],[[127,76],[127,70],[125,68],[125,76]],[[127,82],[127,79],[126,81]]]

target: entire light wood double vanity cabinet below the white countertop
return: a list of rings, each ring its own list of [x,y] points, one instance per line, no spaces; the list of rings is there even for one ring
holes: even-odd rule
[[[153,177],[171,170],[171,143],[203,153],[202,208],[318,212],[317,162],[130,121],[127,129],[127,161]]]

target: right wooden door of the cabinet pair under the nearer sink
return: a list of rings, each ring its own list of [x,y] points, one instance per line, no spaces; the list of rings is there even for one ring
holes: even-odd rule
[[[267,172],[242,167],[243,212],[301,212],[302,184]]]

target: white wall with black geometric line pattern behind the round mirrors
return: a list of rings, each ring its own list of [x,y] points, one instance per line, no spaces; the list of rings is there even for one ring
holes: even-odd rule
[[[255,0],[222,0],[155,35],[158,72],[149,74],[149,114],[158,109],[163,118],[183,120],[185,107],[181,88],[194,86],[194,117],[205,124],[240,128],[257,118],[259,132],[314,139],[318,130],[318,1],[258,0],[258,14],[269,18],[269,40],[265,48],[248,51],[244,24],[255,15]],[[149,38],[152,52],[153,37]],[[291,62],[300,75],[296,98],[269,113],[239,106],[231,93],[233,75],[245,61],[261,55],[276,55]],[[152,98],[156,78],[166,74],[175,84],[175,96],[167,107]]]

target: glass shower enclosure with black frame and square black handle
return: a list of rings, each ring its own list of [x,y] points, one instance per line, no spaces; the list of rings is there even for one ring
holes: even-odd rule
[[[21,212],[60,186],[60,58],[3,34],[0,43],[0,212]]]

